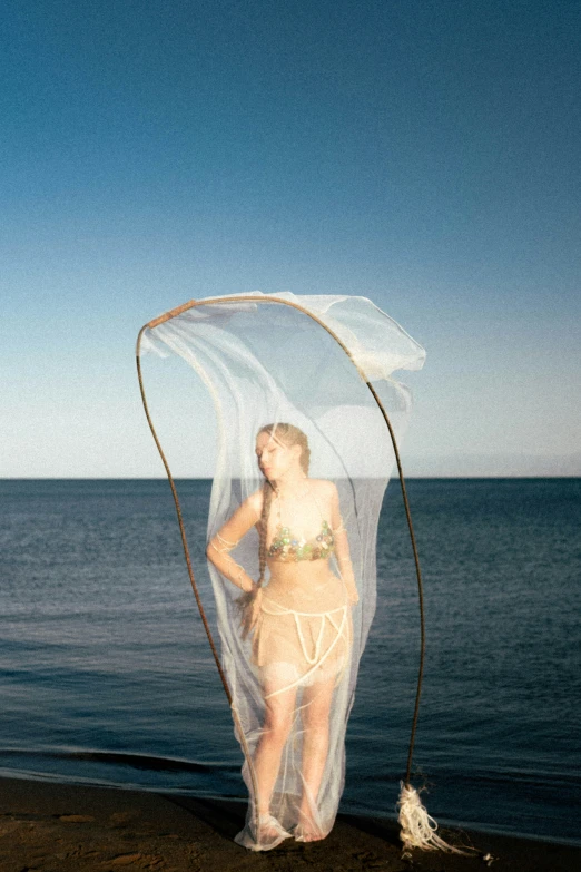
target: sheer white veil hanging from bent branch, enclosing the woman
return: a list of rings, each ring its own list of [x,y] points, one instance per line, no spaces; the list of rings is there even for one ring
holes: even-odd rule
[[[208,566],[249,792],[236,841],[324,837],[395,460],[372,390],[400,442],[411,396],[394,372],[425,353],[364,297],[258,292],[186,304],[150,322],[140,350],[180,355],[216,410]]]

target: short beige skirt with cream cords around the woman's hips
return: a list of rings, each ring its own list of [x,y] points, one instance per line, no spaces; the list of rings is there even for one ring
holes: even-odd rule
[[[328,611],[296,611],[264,596],[253,635],[252,663],[269,692],[339,683],[348,664],[353,623],[347,604]]]

